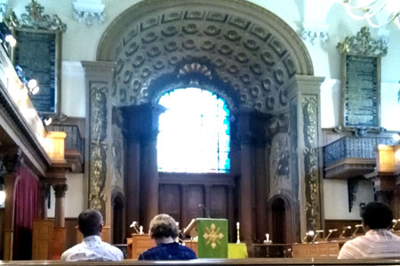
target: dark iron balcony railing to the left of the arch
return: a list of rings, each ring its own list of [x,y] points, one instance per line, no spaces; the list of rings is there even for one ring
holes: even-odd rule
[[[64,131],[67,133],[65,139],[65,148],[76,149],[81,153],[82,158],[84,158],[84,139],[81,137],[79,128],[76,125],[50,125],[47,127],[50,131]]]

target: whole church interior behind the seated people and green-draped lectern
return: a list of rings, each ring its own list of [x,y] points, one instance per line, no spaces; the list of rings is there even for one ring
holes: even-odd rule
[[[400,235],[400,4],[363,2],[0,0],[0,260],[87,208],[133,260],[158,214],[248,257],[336,259],[371,201]]]

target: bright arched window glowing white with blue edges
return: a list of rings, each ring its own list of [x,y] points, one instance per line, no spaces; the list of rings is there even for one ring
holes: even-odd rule
[[[167,109],[159,118],[159,171],[230,171],[229,110],[222,98],[209,90],[186,88],[165,93],[158,104]]]

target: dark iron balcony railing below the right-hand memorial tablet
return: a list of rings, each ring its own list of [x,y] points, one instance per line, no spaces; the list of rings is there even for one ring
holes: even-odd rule
[[[324,167],[347,159],[375,159],[377,145],[396,145],[393,137],[341,137],[324,146]]]

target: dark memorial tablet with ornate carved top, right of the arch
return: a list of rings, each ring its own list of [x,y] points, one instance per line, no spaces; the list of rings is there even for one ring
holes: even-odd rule
[[[371,38],[368,27],[338,43],[342,56],[340,116],[347,129],[380,128],[380,58],[386,43]]]

